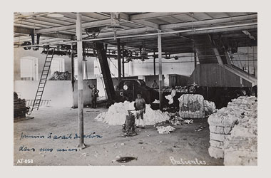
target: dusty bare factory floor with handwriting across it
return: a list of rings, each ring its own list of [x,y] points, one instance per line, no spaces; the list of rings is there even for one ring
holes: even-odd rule
[[[95,132],[92,136],[101,137],[85,138],[88,147],[77,151],[78,139],[74,138],[77,131],[76,109],[44,107],[32,113],[34,119],[14,122],[14,165],[223,165],[223,159],[214,159],[208,154],[207,120],[173,126],[176,130],[168,135],[158,134],[156,128],[150,125],[138,129],[138,135],[134,137],[121,137],[121,125],[107,125],[94,120],[98,113],[106,110],[84,108],[84,134]],[[207,127],[195,132],[200,125]],[[48,138],[50,134],[51,138]],[[53,139],[54,135],[68,138]],[[59,152],[57,149],[71,150]],[[112,162],[116,156],[138,159],[126,163]]]

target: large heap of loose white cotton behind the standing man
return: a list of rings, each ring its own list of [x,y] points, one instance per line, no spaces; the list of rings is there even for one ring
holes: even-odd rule
[[[102,112],[95,118],[98,121],[106,122],[109,125],[123,125],[128,115],[128,110],[134,110],[133,103],[125,101],[124,103],[115,103],[108,108],[107,112]],[[135,112],[133,112],[135,114]],[[159,122],[169,120],[168,112],[152,110],[150,105],[146,105],[144,114],[145,125],[155,125]]]

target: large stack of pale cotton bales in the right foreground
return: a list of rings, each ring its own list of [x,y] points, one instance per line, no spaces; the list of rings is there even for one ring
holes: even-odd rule
[[[208,118],[211,157],[225,165],[257,165],[257,98],[241,96]]]

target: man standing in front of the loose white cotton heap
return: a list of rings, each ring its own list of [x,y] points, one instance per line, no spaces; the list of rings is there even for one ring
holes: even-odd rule
[[[145,128],[145,122],[144,122],[144,118],[143,115],[145,113],[145,100],[144,98],[141,98],[142,95],[141,93],[138,93],[138,98],[136,98],[135,103],[134,103],[134,107],[136,110],[136,119],[137,119],[137,124],[136,127],[139,127],[140,125],[140,119],[142,120],[142,127],[141,128]]]

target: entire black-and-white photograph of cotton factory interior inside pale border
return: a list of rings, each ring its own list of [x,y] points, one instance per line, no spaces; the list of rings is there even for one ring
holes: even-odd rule
[[[14,12],[14,166],[257,166],[257,18]]]

